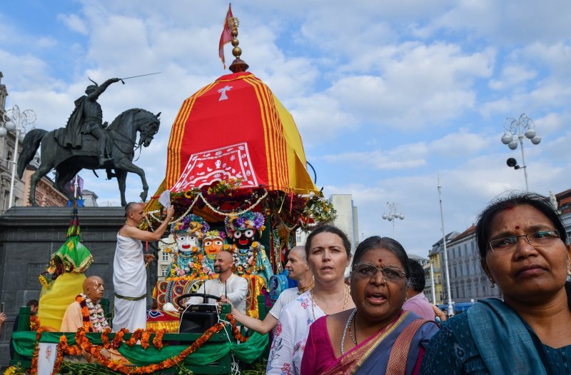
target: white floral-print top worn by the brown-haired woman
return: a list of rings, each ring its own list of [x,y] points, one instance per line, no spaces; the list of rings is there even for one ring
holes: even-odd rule
[[[266,375],[300,374],[309,327],[321,316],[325,313],[313,302],[310,291],[283,308],[273,336]]]

